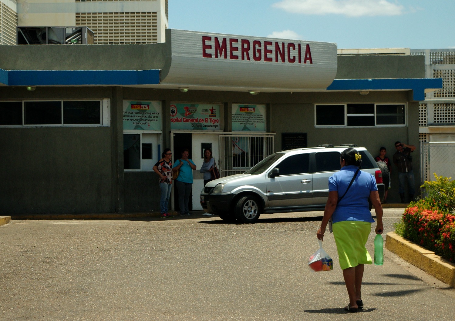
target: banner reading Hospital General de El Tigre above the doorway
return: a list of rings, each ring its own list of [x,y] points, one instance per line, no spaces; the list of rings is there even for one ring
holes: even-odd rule
[[[219,130],[220,105],[171,103],[171,130]]]

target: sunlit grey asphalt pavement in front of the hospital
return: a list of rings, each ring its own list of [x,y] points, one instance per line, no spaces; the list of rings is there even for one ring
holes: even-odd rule
[[[384,209],[385,233],[402,213]],[[365,266],[364,310],[344,311],[333,236],[334,271],[307,266],[322,212],[194,214],[0,226],[0,320],[453,320],[455,289],[387,250]]]

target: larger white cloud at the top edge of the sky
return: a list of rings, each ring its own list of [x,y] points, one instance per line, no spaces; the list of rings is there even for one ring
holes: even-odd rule
[[[305,15],[337,14],[349,17],[401,15],[404,6],[396,0],[281,0],[272,5]]]

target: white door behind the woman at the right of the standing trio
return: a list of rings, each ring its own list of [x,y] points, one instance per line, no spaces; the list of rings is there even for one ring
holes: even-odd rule
[[[192,160],[196,164],[196,171],[193,173],[193,211],[202,210],[200,195],[202,188],[204,188],[204,174],[200,173],[199,170],[204,162],[204,149],[206,147],[212,149],[212,155],[218,164],[219,160],[219,146],[218,146],[219,134],[192,134]]]

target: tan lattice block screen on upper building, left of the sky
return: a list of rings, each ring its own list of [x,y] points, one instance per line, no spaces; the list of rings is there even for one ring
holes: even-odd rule
[[[89,27],[97,45],[157,43],[157,20],[157,12],[76,13],[76,25]]]

